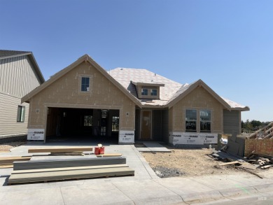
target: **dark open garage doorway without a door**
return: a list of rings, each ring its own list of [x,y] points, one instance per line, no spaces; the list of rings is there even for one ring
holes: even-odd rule
[[[116,140],[119,110],[87,108],[48,108],[46,141]]]

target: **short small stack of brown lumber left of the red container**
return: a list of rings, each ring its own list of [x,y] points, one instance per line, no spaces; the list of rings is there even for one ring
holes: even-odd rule
[[[80,148],[34,148],[29,153],[50,153],[50,155],[83,156],[83,152],[92,152],[91,147]]]

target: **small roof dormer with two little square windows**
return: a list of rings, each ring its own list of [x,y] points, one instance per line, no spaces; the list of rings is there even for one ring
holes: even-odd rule
[[[137,96],[139,99],[160,99],[160,87],[164,87],[165,84],[161,83],[143,83],[133,82],[133,85],[137,88]]]

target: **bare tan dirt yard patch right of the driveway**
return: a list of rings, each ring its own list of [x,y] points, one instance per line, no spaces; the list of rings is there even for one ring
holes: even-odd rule
[[[169,147],[168,147],[169,148]],[[141,153],[158,176],[201,176],[209,174],[235,174],[239,170],[218,166],[208,154],[212,149],[169,148],[172,153]]]

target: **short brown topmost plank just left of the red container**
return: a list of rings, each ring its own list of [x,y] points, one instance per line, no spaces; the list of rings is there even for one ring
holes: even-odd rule
[[[81,147],[81,148],[36,148],[29,149],[29,153],[71,153],[71,152],[86,152],[92,151],[91,147]]]

